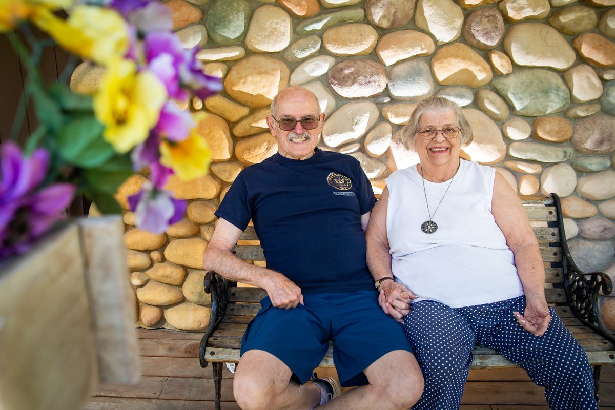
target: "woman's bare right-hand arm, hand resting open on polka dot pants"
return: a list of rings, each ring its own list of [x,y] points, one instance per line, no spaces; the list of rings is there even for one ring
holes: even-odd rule
[[[544,265],[538,250],[538,240],[517,194],[497,171],[491,213],[506,237],[506,244],[515,255],[515,266],[527,301],[524,315],[518,313],[517,320],[526,330],[542,336],[551,317],[544,297]]]

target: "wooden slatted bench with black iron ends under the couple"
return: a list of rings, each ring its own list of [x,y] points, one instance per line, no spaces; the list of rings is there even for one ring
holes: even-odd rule
[[[545,294],[566,328],[579,341],[594,366],[596,389],[600,366],[615,364],[615,341],[598,312],[598,293],[608,295],[613,289],[611,279],[602,272],[585,273],[574,263],[564,234],[560,199],[524,197],[523,205],[538,239],[545,266]],[[263,249],[254,228],[248,226],[233,253],[246,261],[264,261]],[[256,242],[258,243],[258,242]],[[205,291],[212,296],[210,324],[200,342],[200,364],[213,362],[216,410],[220,410],[220,385],[223,363],[239,362],[239,351],[245,328],[260,309],[260,299],[266,296],[261,288],[237,287],[213,271],[205,275]],[[333,367],[332,347],[320,366]],[[475,347],[472,369],[515,367],[514,363],[494,350]]]

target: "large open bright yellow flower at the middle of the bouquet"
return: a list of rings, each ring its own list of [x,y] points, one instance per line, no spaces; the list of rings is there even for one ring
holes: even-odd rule
[[[165,101],[167,91],[154,74],[137,73],[134,61],[116,60],[94,96],[94,113],[105,125],[105,140],[117,152],[128,152],[146,140]]]

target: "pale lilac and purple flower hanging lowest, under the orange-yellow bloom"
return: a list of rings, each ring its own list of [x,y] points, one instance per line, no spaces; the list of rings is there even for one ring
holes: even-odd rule
[[[173,198],[169,192],[143,186],[141,191],[128,197],[130,210],[135,211],[137,227],[163,234],[169,225],[181,221],[186,213],[186,201]]]

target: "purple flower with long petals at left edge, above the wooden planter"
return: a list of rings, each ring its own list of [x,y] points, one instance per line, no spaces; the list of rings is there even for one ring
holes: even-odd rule
[[[71,203],[73,184],[58,183],[41,189],[47,175],[49,153],[36,149],[25,157],[14,143],[2,144],[0,168],[0,258],[24,253],[32,243],[64,217]]]

